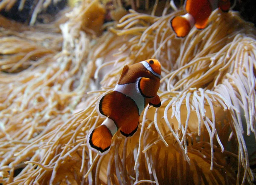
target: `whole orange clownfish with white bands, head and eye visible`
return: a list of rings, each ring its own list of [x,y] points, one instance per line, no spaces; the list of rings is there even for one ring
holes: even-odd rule
[[[99,113],[107,118],[89,132],[87,146],[103,155],[110,150],[112,137],[119,129],[125,137],[133,136],[144,108],[161,105],[157,95],[160,75],[161,65],[155,59],[125,65],[114,90],[98,102]]]

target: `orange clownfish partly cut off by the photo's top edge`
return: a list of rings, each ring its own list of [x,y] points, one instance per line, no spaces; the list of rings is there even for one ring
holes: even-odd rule
[[[186,0],[184,6],[187,14],[175,16],[171,20],[171,27],[177,37],[186,37],[194,25],[198,29],[205,28],[213,10],[219,8],[227,12],[231,3],[230,0]]]

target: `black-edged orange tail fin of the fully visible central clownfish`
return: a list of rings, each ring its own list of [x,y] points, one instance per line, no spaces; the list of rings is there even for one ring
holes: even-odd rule
[[[108,153],[112,137],[111,131],[106,125],[99,125],[89,133],[87,145],[93,151],[99,152],[100,155],[103,155]]]

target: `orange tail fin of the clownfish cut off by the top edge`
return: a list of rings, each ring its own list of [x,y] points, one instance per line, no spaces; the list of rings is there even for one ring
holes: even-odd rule
[[[189,34],[195,20],[190,14],[176,16],[171,20],[171,26],[177,37],[186,37]]]

